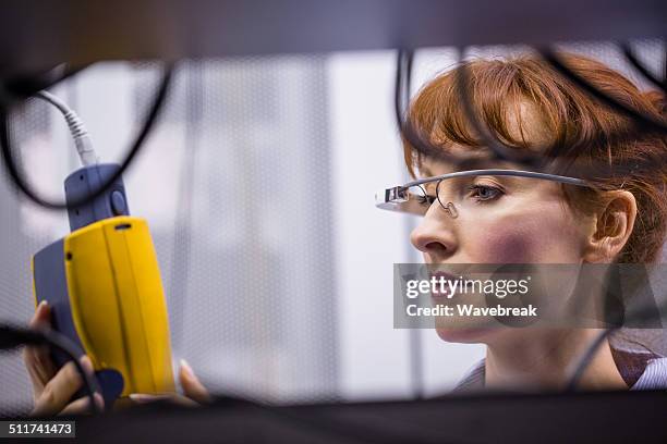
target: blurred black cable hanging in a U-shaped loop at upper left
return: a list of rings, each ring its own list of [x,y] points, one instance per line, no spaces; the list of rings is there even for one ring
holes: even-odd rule
[[[140,152],[148,134],[155,126],[155,122],[157,121],[159,113],[162,109],[162,106],[167,99],[167,92],[169,90],[169,85],[171,84],[172,73],[173,73],[173,65],[169,64],[165,70],[165,74],[158,87],[153,104],[145,118],[144,124],[141,131],[138,132],[136,138],[132,143],[131,149],[128,152],[128,156],[125,157],[125,159],[122,161],[120,169],[114,174],[112,174],[105,183],[102,183],[99,187],[97,187],[97,189],[94,189],[89,194],[81,196],[80,198],[74,199],[73,201],[70,201],[70,202],[50,200],[50,199],[45,199],[40,197],[28,185],[28,183],[24,180],[22,174],[19,172],[19,168],[16,163],[14,162],[14,159],[11,152],[10,135],[9,135],[9,127],[8,127],[9,126],[9,115],[10,115],[9,108],[10,108],[11,102],[9,98],[7,97],[7,91],[3,91],[3,96],[0,97],[0,146],[2,150],[2,159],[4,160],[3,162],[4,168],[10,178],[14,183],[14,185],[24,195],[26,195],[31,200],[33,200],[35,203],[39,205],[40,207],[45,207],[45,208],[49,208],[53,210],[61,210],[61,209],[66,209],[68,207],[77,207],[81,205],[86,205],[95,200],[97,197],[101,196],[107,189],[109,189],[113,185],[113,183],[119,177],[121,177],[121,175],[130,166],[132,161],[136,158],[136,155]]]

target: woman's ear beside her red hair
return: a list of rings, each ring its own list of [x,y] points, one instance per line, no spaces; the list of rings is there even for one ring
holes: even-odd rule
[[[595,232],[590,236],[584,261],[611,262],[632,234],[636,219],[636,200],[627,190],[607,192],[607,203],[596,214]]]

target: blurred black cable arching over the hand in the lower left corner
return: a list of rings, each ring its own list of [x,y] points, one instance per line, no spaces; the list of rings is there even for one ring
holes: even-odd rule
[[[95,403],[95,392],[99,392],[99,387],[97,386],[96,380],[89,375],[81,365],[76,347],[72,341],[54,330],[36,330],[0,324],[0,349],[7,350],[21,345],[45,344],[64,353],[74,362],[74,367],[76,367],[76,371],[84,382],[84,388],[90,403],[90,409],[94,414],[99,414],[100,409]]]

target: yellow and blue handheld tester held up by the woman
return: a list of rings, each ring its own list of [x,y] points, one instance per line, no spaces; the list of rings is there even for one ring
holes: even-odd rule
[[[65,180],[68,201],[110,177],[117,164],[85,166]],[[169,320],[145,220],[129,215],[118,180],[93,202],[69,208],[72,233],[33,258],[35,301],[53,329],[90,357],[105,404],[130,393],[173,393]],[[53,354],[62,366],[65,356]]]

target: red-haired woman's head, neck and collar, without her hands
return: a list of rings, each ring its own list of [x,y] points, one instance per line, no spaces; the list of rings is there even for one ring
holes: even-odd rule
[[[599,62],[561,57],[580,76],[617,100],[662,119],[655,103],[658,95],[640,92]],[[423,87],[409,109],[409,120],[445,152],[484,157],[488,150],[471,130],[463,111],[466,104],[457,91],[457,78],[462,78],[458,73],[441,74]],[[465,64],[465,73],[474,114],[498,140],[520,151],[559,148],[561,158],[577,165],[619,165],[654,155],[664,159],[667,152],[664,134],[614,139],[611,135],[629,127],[630,121],[566,82],[538,57],[477,60]],[[578,148],[568,150],[571,147]],[[407,140],[404,158],[413,177],[456,171],[451,163],[421,155]],[[432,182],[424,185],[430,199],[425,199],[427,210],[411,242],[425,262],[434,264],[657,261],[667,226],[666,177],[662,164],[652,171],[644,168],[596,178],[605,192],[494,175],[465,177],[458,184],[446,180],[437,189],[437,182]],[[457,202],[458,208],[449,202]],[[456,214],[448,205],[456,208]],[[571,377],[572,363],[598,334],[598,330],[584,328],[461,328],[440,318],[436,330],[444,341],[486,345],[485,360],[458,390],[561,388]],[[621,335],[613,334],[594,354],[579,385],[593,390],[667,387],[667,359],[650,351],[628,353]]]

